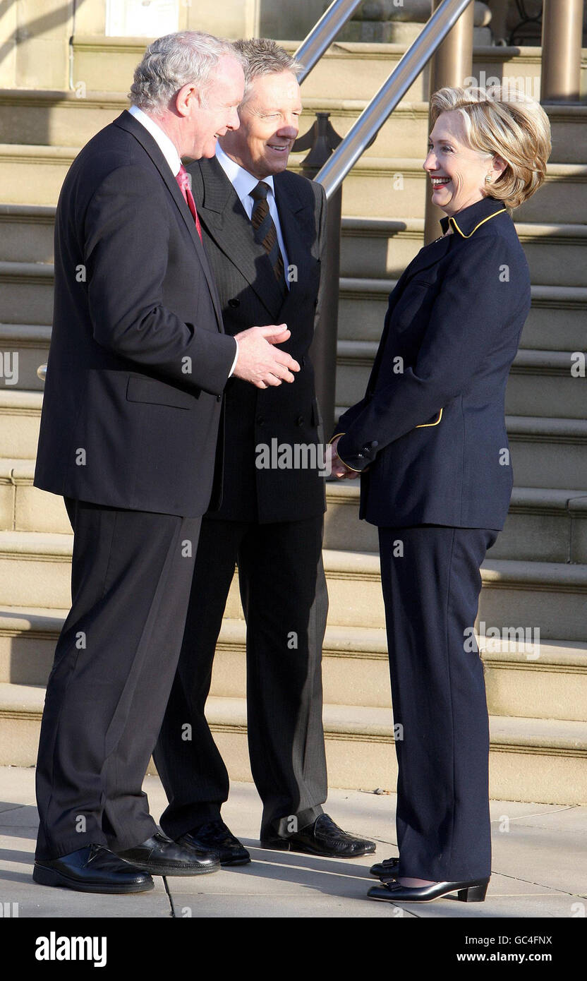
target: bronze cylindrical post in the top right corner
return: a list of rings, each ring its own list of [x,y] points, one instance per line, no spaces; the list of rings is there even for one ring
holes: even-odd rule
[[[578,102],[583,0],[544,0],[541,102]]]

